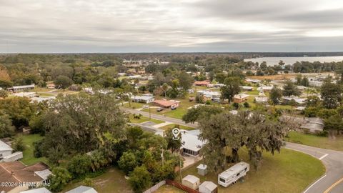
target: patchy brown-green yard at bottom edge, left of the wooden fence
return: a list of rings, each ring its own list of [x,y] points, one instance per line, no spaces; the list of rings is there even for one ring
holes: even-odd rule
[[[74,182],[69,184],[63,192],[69,191],[81,185],[87,185],[84,182]],[[104,174],[91,179],[91,187],[97,192],[114,192],[114,193],[129,193],[132,192],[129,183],[124,178],[124,173],[116,167],[110,168]]]

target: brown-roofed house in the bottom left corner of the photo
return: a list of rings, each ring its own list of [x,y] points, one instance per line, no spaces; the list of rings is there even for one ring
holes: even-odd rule
[[[0,163],[0,182],[11,182],[20,185],[0,187],[0,190],[4,192],[22,192],[31,187],[44,186],[47,183],[47,177],[39,172],[46,171],[46,169],[49,169],[49,167],[43,162],[30,166],[26,166],[18,161],[2,162]],[[45,173],[47,174],[48,172]]]

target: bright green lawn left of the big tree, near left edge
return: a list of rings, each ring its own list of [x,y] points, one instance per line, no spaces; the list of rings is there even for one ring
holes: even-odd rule
[[[21,159],[20,161],[26,165],[36,164],[37,162],[44,162],[45,164],[49,164],[46,157],[34,157],[34,142],[38,142],[44,137],[39,134],[28,134],[23,135],[22,137],[25,149],[23,152],[23,159]]]

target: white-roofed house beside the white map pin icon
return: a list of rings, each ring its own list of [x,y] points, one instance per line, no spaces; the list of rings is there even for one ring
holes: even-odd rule
[[[199,155],[200,149],[204,146],[205,142],[199,139],[199,133],[192,133],[181,129],[182,147],[180,148],[183,154],[187,154],[192,157]]]

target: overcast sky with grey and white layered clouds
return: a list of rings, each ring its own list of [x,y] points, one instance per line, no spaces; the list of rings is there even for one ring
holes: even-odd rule
[[[0,53],[343,51],[341,0],[0,0]]]

